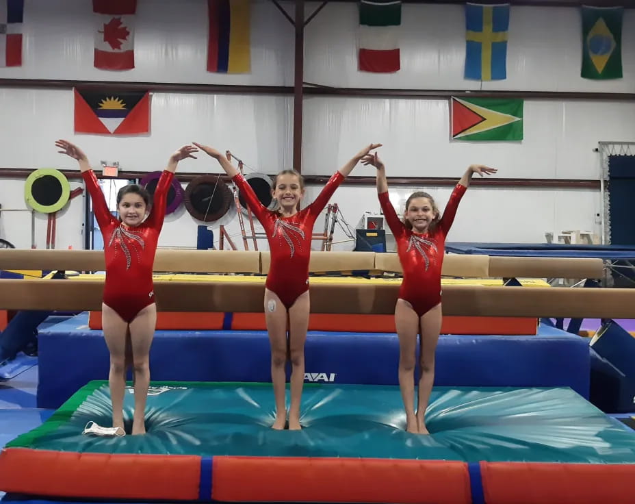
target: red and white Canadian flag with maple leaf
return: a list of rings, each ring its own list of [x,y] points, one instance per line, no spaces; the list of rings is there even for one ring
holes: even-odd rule
[[[95,68],[130,70],[135,67],[136,10],[137,0],[92,0],[96,17]]]

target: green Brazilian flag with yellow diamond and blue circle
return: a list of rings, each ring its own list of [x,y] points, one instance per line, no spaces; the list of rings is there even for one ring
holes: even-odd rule
[[[621,7],[582,5],[582,71],[585,79],[622,77]]]

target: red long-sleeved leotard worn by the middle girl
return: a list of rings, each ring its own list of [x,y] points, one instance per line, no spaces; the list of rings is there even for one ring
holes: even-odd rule
[[[315,201],[291,217],[281,217],[278,212],[268,210],[242,175],[235,175],[232,180],[267,234],[271,262],[265,286],[280,298],[288,310],[300,294],[309,290],[313,224],[344,180],[344,175],[335,172]]]

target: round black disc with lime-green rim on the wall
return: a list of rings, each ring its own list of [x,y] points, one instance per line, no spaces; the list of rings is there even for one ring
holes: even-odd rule
[[[40,168],[27,177],[24,195],[27,205],[36,212],[53,214],[68,203],[70,185],[61,171]]]

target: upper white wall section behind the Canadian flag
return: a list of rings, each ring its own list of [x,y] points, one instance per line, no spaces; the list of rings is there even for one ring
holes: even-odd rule
[[[93,66],[94,20],[87,0],[25,0],[23,66],[0,78],[290,86],[294,29],[272,2],[252,2],[252,70],[207,72],[207,2],[140,0],[135,68]]]

